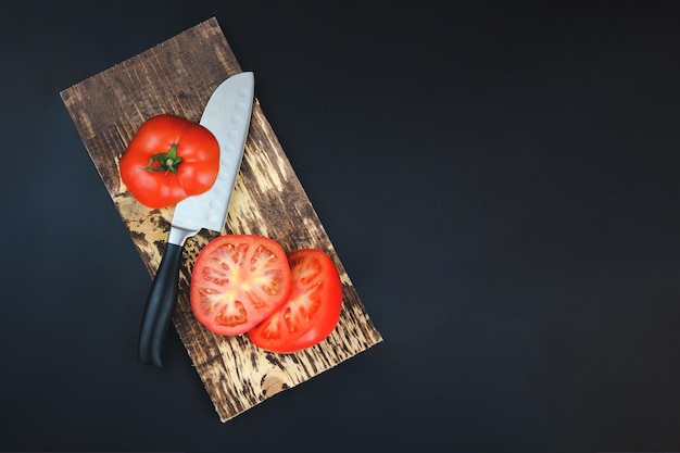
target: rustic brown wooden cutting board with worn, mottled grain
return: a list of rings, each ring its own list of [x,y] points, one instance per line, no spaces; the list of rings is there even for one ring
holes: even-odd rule
[[[119,178],[121,154],[137,128],[153,115],[172,113],[198,122],[217,85],[240,72],[213,17],[61,92],[150,275],[161,262],[174,209],[150,210],[131,198]],[[340,270],[344,300],[331,336],[295,354],[264,352],[247,336],[216,336],[193,317],[188,288],[196,255],[217,234],[204,230],[189,239],[173,323],[222,421],[382,341],[257,99],[222,231],[228,232],[264,235],[288,251],[325,250]],[[139,303],[141,316],[146,301]]]

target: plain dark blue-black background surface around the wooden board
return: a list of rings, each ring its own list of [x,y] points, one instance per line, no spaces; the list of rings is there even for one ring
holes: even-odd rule
[[[680,451],[678,2],[0,5],[0,451]],[[211,16],[385,337],[227,424],[59,98]]]

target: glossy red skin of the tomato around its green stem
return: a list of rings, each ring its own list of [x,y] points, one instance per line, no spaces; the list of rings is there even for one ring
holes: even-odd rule
[[[180,161],[171,169],[163,165],[176,146]],[[121,179],[129,192],[148,207],[165,207],[210,189],[219,171],[219,143],[205,127],[175,115],[147,119],[121,158]]]

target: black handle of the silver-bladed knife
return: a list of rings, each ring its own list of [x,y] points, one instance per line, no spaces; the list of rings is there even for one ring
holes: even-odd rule
[[[159,270],[147,297],[139,335],[139,361],[161,367],[161,350],[177,301],[181,246],[167,243]]]

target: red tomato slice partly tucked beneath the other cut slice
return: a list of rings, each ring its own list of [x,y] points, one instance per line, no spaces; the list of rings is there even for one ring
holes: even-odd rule
[[[298,250],[288,255],[288,302],[248,332],[255,345],[272,352],[297,352],[325,340],[342,307],[340,275],[324,251]]]

